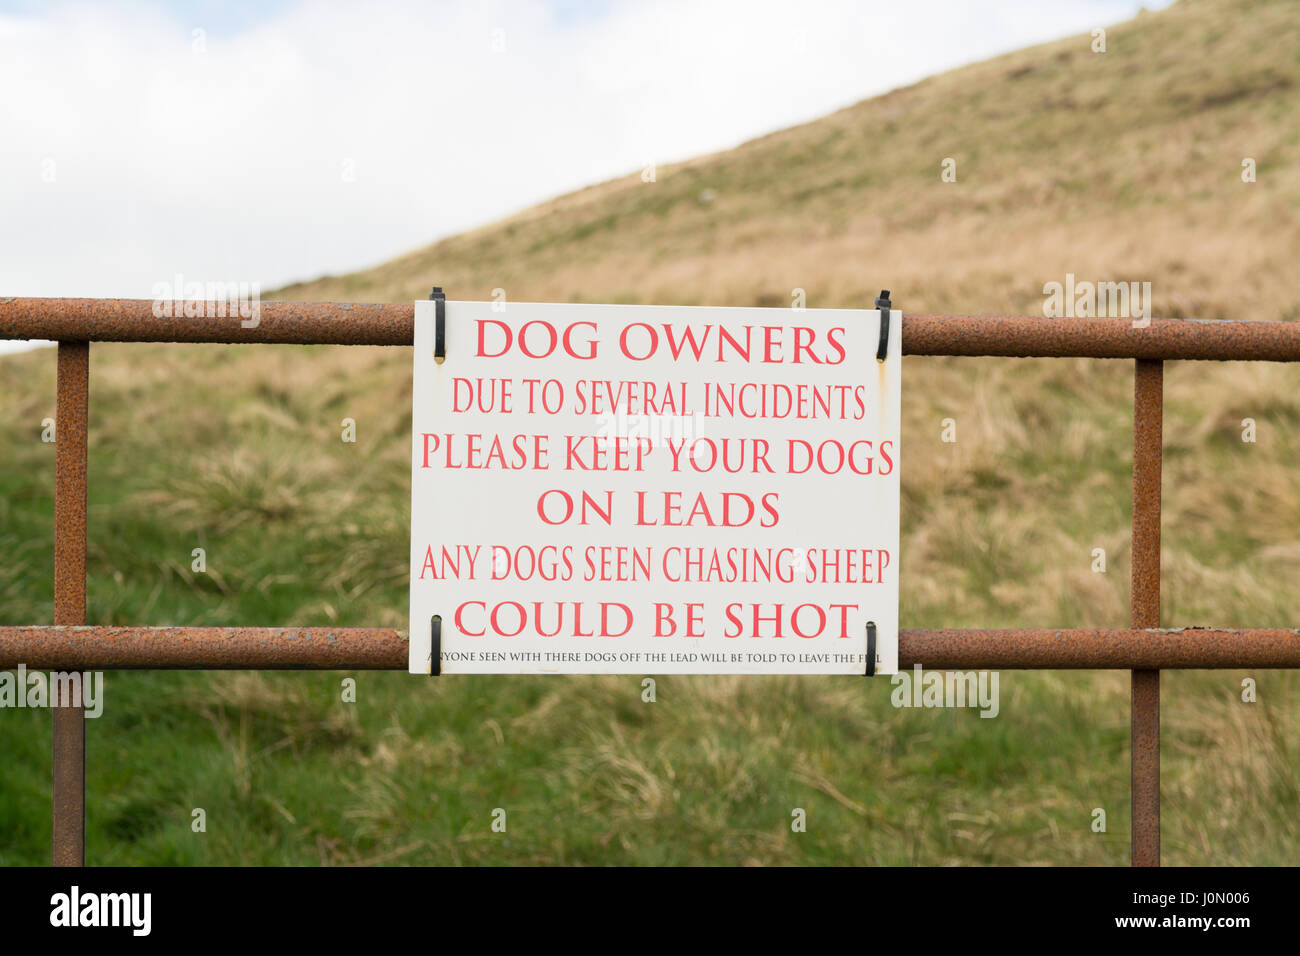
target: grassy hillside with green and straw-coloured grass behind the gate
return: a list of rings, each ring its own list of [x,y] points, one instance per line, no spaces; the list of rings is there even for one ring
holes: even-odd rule
[[[1291,3],[1184,0],[1105,53],[998,57],[280,297],[889,287],[905,312],[1037,312],[1072,272],[1150,281],[1156,315],[1297,319],[1297,30]],[[91,351],[92,622],[404,623],[407,350]],[[1300,623],[1297,375],[1167,368],[1166,626]],[[904,623],[1126,626],[1131,363],[909,358],[906,377]],[[52,352],[0,360],[0,620],[47,623]],[[667,678],[644,704],[637,678],[363,674],[344,704],[344,676],[109,674],[91,861],[1127,861],[1126,674],[1004,672],[992,721],[896,710],[881,680]],[[1253,674],[1243,704],[1243,676],[1165,675],[1169,864],[1300,858],[1300,678]],[[48,714],[0,711],[0,862],[40,862]]]

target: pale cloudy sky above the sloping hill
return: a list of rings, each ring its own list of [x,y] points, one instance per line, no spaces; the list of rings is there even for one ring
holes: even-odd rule
[[[0,295],[352,272],[1141,5],[0,0]]]

